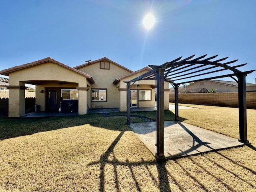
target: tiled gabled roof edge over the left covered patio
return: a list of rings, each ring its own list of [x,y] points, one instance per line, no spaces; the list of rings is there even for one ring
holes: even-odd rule
[[[57,65],[62,66],[64,68],[67,68],[68,70],[74,71],[74,72],[88,78],[91,83],[94,83],[94,80],[92,79],[92,76],[90,76],[90,75],[88,75],[88,74],[86,74],[82,71],[79,71],[77,69],[74,69],[70,66],[67,66],[67,65],[65,65],[61,62],[58,62],[58,61],[56,61],[56,60],[54,60],[50,57],[47,57],[47,58],[44,58],[44,59],[41,59],[41,60],[38,60],[38,61],[34,61],[34,62],[31,62],[31,63],[15,66],[15,67],[12,67],[12,68],[4,69],[4,70],[0,71],[0,74],[8,76],[9,73],[11,73],[11,72],[18,71],[18,70],[25,69],[25,68],[32,67],[32,66],[36,66],[36,65],[43,64],[43,63],[46,63],[46,62],[52,62],[54,64],[57,64]]]

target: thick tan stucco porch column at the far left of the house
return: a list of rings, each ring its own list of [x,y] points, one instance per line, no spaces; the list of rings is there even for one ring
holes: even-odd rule
[[[25,84],[23,84],[25,85]],[[25,89],[28,87],[9,85],[9,117],[20,117],[25,115]]]

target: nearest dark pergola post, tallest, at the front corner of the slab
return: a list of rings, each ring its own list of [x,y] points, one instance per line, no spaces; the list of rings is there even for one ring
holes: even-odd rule
[[[156,159],[164,160],[164,69],[158,68],[156,76]]]

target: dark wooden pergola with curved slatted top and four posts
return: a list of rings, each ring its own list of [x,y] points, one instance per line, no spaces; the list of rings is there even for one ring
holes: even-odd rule
[[[246,64],[234,65],[237,60],[221,63],[226,58],[212,61],[218,55],[206,58],[206,55],[192,59],[195,55],[181,60],[179,57],[162,65],[149,65],[151,71],[138,76],[127,84],[127,124],[130,124],[130,88],[140,80],[156,80],[156,158],[165,159],[164,156],[164,81],[174,87],[175,120],[178,121],[178,87],[181,84],[230,77],[238,83],[238,108],[239,108],[239,139],[246,144],[247,119],[246,119],[246,81],[247,74],[255,70],[242,72],[237,68]]]

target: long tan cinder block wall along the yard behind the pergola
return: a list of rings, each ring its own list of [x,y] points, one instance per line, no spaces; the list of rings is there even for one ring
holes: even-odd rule
[[[179,103],[238,107],[238,93],[188,93],[179,94]],[[174,102],[174,94],[169,94]],[[246,92],[247,108],[256,109],[256,92]]]

